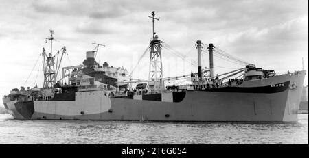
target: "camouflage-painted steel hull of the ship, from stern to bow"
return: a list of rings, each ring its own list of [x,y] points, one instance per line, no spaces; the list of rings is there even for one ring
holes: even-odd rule
[[[297,122],[304,75],[301,71],[244,85],[270,87],[288,82],[280,92],[200,90],[177,94],[180,99],[162,94],[161,101],[151,101],[138,96],[111,98],[93,91],[76,92],[75,101],[8,101],[6,105],[10,104],[16,119]]]

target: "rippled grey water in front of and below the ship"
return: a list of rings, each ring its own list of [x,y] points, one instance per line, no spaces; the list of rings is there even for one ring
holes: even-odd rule
[[[296,124],[12,120],[0,114],[0,144],[308,144],[308,114]]]

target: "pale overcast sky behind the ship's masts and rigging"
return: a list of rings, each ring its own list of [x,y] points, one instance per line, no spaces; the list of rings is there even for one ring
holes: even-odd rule
[[[301,70],[301,57],[308,69],[308,0],[0,0],[0,93],[35,82],[43,85],[41,58],[34,64],[43,47],[49,50],[49,29],[57,39],[54,50],[67,47],[62,66],[81,64],[85,52],[93,49],[91,43],[98,42],[106,44],[99,49],[98,62],[130,72],[152,37],[151,11],[160,18],[155,23],[159,38],[192,59],[196,40],[202,40],[277,73]],[[202,62],[209,67],[207,55],[203,53]],[[197,71],[166,49],[162,56],[164,77]],[[135,78],[148,78],[148,64],[149,53],[133,73]],[[214,64],[218,74],[242,67],[218,57]]]

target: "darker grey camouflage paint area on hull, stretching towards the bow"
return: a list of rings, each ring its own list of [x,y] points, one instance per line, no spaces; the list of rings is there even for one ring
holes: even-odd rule
[[[111,98],[111,110],[74,116],[34,112],[32,119],[144,121],[283,121],[288,90],[276,94],[187,92],[181,103]],[[201,101],[203,97],[203,102]],[[264,101],[267,98],[267,101]],[[211,100],[210,100],[211,99]],[[207,101],[208,100],[208,101]],[[227,103],[222,103],[227,101]],[[168,115],[168,117],[167,117]]]

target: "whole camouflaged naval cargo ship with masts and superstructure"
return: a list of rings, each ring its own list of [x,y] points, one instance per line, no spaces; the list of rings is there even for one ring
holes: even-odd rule
[[[166,44],[155,32],[155,12],[149,17],[153,36],[144,52],[150,51],[148,80],[133,79],[124,67],[98,64],[95,57],[100,44],[86,52],[82,64],[63,67],[61,75],[66,48],[52,54],[51,31],[47,38],[51,51],[46,53],[43,48],[41,53],[43,87],[14,88],[3,96],[5,108],[21,120],[297,122],[305,70],[278,75],[247,63],[243,68],[214,75],[213,53],[224,52],[212,43],[197,40],[196,73],[163,77],[161,48]],[[205,48],[209,68],[201,66]],[[165,86],[165,81],[173,79],[190,83]],[[138,83],[135,88],[133,83]]]

